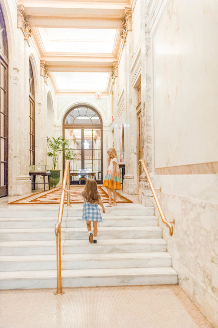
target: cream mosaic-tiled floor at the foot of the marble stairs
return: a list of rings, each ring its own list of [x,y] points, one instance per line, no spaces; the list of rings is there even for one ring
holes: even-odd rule
[[[0,328],[212,328],[178,285],[4,290]]]

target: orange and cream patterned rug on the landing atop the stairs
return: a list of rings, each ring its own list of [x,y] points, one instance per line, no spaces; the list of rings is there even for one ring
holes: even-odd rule
[[[82,191],[84,187],[70,186],[70,189]],[[43,191],[41,193],[33,194],[31,196],[15,200],[14,202],[8,204],[59,204],[61,199],[61,190],[62,188],[53,188],[51,190]],[[99,186],[98,192],[101,196],[102,202],[108,203],[109,199],[107,192]],[[70,202],[78,204],[83,203],[83,198],[78,195],[70,195]],[[65,194],[65,203],[67,203],[67,194]],[[132,203],[132,201],[117,193],[117,203]]]

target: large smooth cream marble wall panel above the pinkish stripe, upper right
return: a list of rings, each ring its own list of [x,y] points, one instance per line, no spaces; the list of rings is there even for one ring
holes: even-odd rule
[[[172,0],[152,35],[155,168],[218,160],[217,18],[215,0]]]

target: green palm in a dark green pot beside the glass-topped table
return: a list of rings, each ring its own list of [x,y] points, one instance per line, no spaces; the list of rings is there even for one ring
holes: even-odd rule
[[[52,159],[52,170],[50,170],[50,187],[56,187],[60,181],[60,170],[55,170],[60,154],[64,151],[65,159],[69,160],[76,159],[77,157],[73,149],[70,148],[70,141],[76,142],[72,139],[65,139],[62,135],[56,139],[54,137],[47,137],[47,155]]]

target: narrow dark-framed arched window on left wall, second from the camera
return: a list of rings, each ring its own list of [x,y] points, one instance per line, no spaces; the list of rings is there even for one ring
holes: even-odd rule
[[[29,61],[29,82],[30,82],[30,93],[29,93],[29,104],[30,104],[30,128],[29,128],[29,136],[30,136],[30,165],[35,164],[35,98],[34,98],[34,79],[32,72],[32,65]]]

